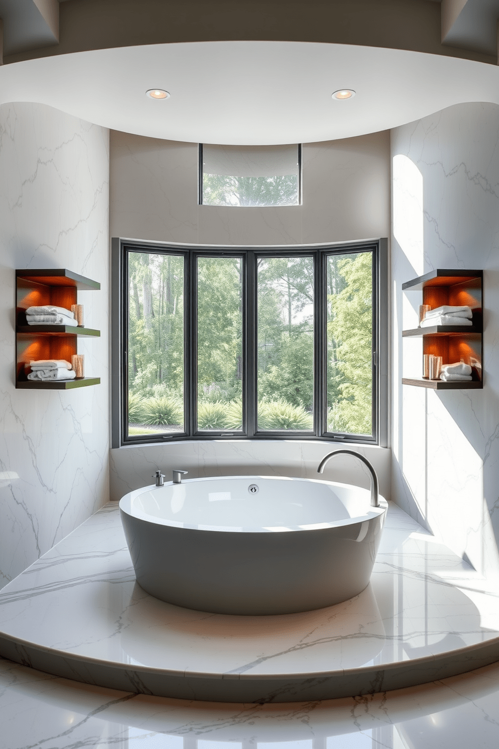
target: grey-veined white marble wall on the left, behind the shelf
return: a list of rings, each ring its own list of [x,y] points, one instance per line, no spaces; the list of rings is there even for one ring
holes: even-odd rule
[[[0,108],[0,586],[108,498],[108,130],[49,106]],[[67,267],[101,284],[79,301],[101,384],[16,390],[16,268]]]

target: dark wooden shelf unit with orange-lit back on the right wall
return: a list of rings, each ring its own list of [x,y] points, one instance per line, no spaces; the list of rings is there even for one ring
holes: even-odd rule
[[[442,357],[444,364],[464,360],[471,365],[469,382],[444,382],[425,377],[402,377],[402,385],[432,390],[469,390],[483,388],[482,379],[482,294],[483,270],[438,269],[402,284],[402,291],[422,291],[423,304],[432,309],[442,305],[469,306],[473,313],[469,325],[435,325],[402,331],[402,338],[423,339],[423,354]],[[421,373],[423,362],[421,362]]]

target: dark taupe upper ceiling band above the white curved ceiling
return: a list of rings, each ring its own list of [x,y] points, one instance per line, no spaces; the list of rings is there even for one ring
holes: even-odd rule
[[[442,0],[447,25],[441,28],[441,4],[426,0],[0,0],[3,61],[159,43],[281,40],[406,49],[497,64],[495,23],[490,28],[494,1]],[[463,6],[460,12],[456,3]]]

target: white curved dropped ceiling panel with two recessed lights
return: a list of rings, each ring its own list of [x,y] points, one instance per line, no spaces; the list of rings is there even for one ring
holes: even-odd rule
[[[171,97],[145,92],[165,88]],[[353,88],[349,100],[331,99]],[[0,102],[45,103],[142,136],[227,145],[387,130],[455,103],[499,103],[499,67],[400,49],[223,41],[97,49],[0,67]]]

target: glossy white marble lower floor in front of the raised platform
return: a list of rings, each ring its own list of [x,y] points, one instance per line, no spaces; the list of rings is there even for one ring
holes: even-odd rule
[[[499,664],[366,697],[242,705],[126,694],[0,660],[2,749],[489,749]]]

